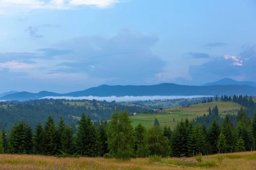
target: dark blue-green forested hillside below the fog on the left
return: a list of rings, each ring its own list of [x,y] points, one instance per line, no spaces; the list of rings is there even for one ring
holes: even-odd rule
[[[75,126],[78,124],[76,117],[81,117],[82,113],[90,115],[93,121],[110,119],[116,107],[120,110],[128,109],[129,112],[147,110],[137,105],[118,105],[115,101],[40,99],[27,102],[0,102],[0,127],[9,131],[16,122],[25,120],[33,128],[37,122],[44,123],[51,114],[55,122],[58,122],[62,115],[64,121],[76,131]]]

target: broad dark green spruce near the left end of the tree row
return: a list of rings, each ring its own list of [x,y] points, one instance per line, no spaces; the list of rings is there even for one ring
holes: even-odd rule
[[[9,135],[9,153],[32,153],[32,129],[24,121],[15,124]]]

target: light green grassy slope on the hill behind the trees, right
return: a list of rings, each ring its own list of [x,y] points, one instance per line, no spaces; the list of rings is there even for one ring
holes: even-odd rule
[[[191,105],[187,108],[170,108],[164,110],[165,113],[138,114],[131,116],[131,119],[133,120],[133,126],[136,126],[139,122],[141,122],[142,125],[144,125],[146,128],[149,128],[154,125],[154,119],[157,118],[161,127],[167,125],[173,128],[182,118],[185,119],[187,117],[188,119],[193,119],[196,116],[203,116],[204,114],[208,114],[209,107],[213,108],[215,105],[218,106],[219,114],[221,116],[224,116],[227,113],[236,114],[237,110],[241,108],[241,105],[234,102],[210,102]],[[170,112],[172,112],[172,114]],[[173,119],[175,119],[175,121],[173,121]]]

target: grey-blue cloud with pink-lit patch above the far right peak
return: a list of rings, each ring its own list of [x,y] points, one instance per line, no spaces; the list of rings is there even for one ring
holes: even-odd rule
[[[226,77],[239,81],[255,81],[256,46],[243,47],[238,56],[239,58],[224,55],[201,65],[190,65],[192,83],[200,85]]]

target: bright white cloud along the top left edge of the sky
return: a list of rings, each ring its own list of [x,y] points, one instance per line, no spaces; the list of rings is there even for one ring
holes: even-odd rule
[[[16,15],[33,9],[76,9],[83,6],[108,8],[121,0],[1,0],[0,14]]]

